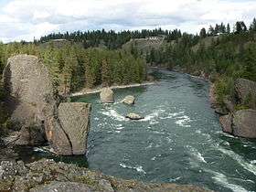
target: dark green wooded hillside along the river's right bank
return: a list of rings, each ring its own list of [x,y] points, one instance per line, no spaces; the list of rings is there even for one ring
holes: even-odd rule
[[[146,61],[194,75],[203,72],[215,82],[219,104],[227,98],[235,100],[234,80],[256,81],[256,20],[250,27],[237,22],[232,33],[223,24],[209,27],[207,35],[205,32],[202,29],[199,37],[183,34],[162,48],[152,48]]]

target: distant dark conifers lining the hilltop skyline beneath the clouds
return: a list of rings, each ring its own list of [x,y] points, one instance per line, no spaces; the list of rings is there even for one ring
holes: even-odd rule
[[[210,26],[208,30],[202,28],[198,35],[195,37],[212,37],[220,33],[240,33],[243,31],[256,30],[256,20],[253,20],[251,27],[246,27],[244,22],[238,21],[234,27],[230,27],[229,24],[225,25],[223,23],[216,24],[215,27]],[[39,40],[35,40],[36,43],[44,43],[53,39],[67,39],[74,42],[81,42],[84,48],[91,47],[106,47],[109,49],[122,48],[123,44],[130,41],[132,38],[146,38],[146,37],[165,37],[168,42],[176,40],[183,36],[182,32],[178,29],[175,30],[163,30],[162,28],[155,28],[153,30],[124,30],[121,32],[115,32],[113,30],[106,31],[93,30],[93,31],[75,31],[72,33],[52,33],[48,36],[41,37]]]

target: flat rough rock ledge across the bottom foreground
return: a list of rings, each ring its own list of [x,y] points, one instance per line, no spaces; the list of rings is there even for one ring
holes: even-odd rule
[[[0,191],[209,191],[202,187],[172,183],[152,184],[104,176],[87,168],[53,160],[23,162],[3,161],[0,165]]]

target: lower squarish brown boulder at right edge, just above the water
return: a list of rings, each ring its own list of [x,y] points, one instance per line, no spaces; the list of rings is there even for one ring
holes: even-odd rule
[[[256,138],[255,110],[240,110],[234,113],[233,134],[240,137]]]

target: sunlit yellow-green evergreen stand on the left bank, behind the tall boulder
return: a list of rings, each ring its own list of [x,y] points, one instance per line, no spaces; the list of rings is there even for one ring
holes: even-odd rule
[[[123,50],[81,48],[66,45],[56,48],[51,44],[41,48],[35,44],[0,44],[0,72],[7,59],[16,54],[36,55],[48,67],[54,84],[61,92],[78,91],[99,85],[140,83],[146,80],[144,59],[135,58]]]

